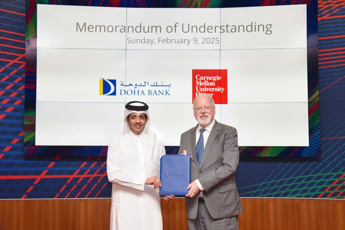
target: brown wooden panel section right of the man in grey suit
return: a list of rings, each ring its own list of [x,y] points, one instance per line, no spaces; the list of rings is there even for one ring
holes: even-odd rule
[[[342,230],[345,200],[241,198],[240,230]]]

